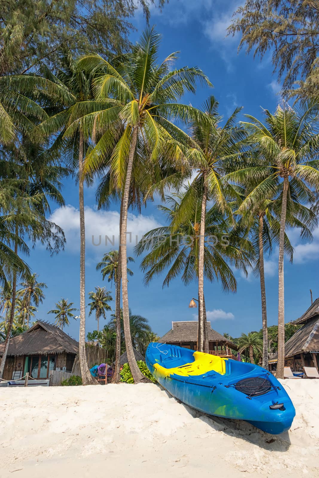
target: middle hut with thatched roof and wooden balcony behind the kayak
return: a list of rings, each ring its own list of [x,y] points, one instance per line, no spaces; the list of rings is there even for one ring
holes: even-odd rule
[[[195,320],[172,322],[171,330],[163,335],[158,342],[197,350],[197,332],[198,322]],[[237,350],[237,345],[212,329],[210,322],[207,322],[207,333],[210,354],[236,359],[232,355],[231,349]]]

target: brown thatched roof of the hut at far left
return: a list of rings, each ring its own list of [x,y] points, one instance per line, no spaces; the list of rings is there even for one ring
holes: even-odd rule
[[[4,343],[0,344],[0,356]],[[9,341],[8,355],[40,354],[77,354],[78,342],[62,332],[58,327],[47,322],[37,321],[34,326]]]

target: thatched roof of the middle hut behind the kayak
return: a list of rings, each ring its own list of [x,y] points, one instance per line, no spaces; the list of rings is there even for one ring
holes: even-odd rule
[[[197,320],[186,320],[183,322],[172,322],[172,328],[158,342],[196,342],[197,341]],[[207,322],[208,340],[209,342],[222,342],[237,350],[237,345],[233,344],[226,337],[220,335],[216,330],[211,328],[210,322]]]

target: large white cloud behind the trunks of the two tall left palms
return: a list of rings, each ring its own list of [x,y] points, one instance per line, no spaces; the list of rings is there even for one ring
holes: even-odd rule
[[[66,235],[66,248],[70,251],[78,252],[80,247],[80,217],[79,210],[71,205],[55,209],[50,220],[60,226]],[[99,250],[99,247],[105,247],[105,236],[113,240],[114,247],[118,246],[120,214],[117,211],[98,211],[91,207],[85,207],[85,237],[86,247],[90,250]],[[127,230],[132,233],[130,241],[127,235],[128,247],[134,247],[136,242],[142,239],[143,234],[150,229],[159,227],[160,224],[153,216],[128,214]],[[92,241],[93,236],[93,241]],[[100,245],[99,244],[99,236]],[[136,240],[137,236],[137,240]],[[107,245],[112,247],[108,241]]]

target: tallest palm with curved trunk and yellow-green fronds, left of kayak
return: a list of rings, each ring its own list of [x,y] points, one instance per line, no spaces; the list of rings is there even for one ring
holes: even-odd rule
[[[105,157],[110,157],[114,184],[122,193],[120,237],[124,332],[135,383],[145,381],[145,377],[133,354],[127,291],[127,213],[134,158],[143,158],[145,171],[160,162],[171,162],[183,169],[185,156],[177,139],[184,139],[185,133],[172,120],[178,118],[188,122],[200,112],[176,101],[184,92],[194,92],[197,80],[210,85],[197,67],[171,69],[175,53],[158,65],[159,44],[160,35],[153,28],[147,29],[130,54],[112,63],[97,55],[88,55],[80,61],[81,67],[96,74],[93,80],[96,100],[109,100],[110,103],[109,106],[104,104],[98,113],[86,114],[81,119],[88,131],[100,135],[95,148],[86,157],[84,171],[96,171],[104,165]],[[114,146],[114,134],[109,127],[115,130],[119,121],[123,133]]]

